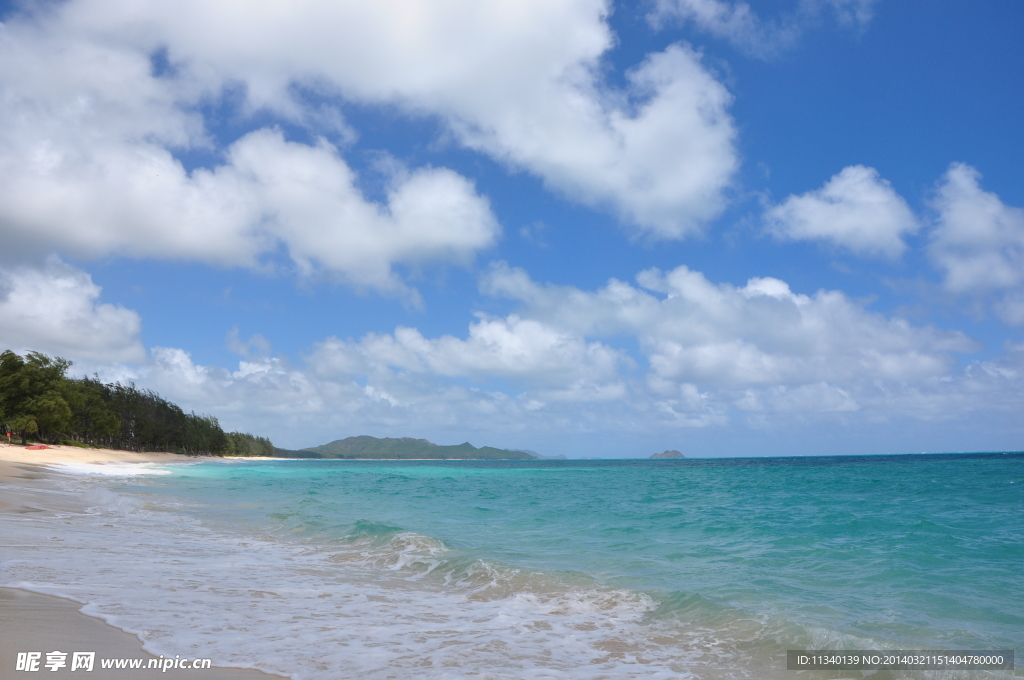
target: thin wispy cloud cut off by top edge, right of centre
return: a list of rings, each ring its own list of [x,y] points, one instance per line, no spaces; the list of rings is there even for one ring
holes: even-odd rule
[[[863,29],[873,16],[874,0],[802,0],[795,11],[764,19],[745,2],[725,0],[656,0],[648,20],[692,22],[702,31],[728,40],[737,49],[762,58],[792,47],[806,27],[829,13],[841,25]]]

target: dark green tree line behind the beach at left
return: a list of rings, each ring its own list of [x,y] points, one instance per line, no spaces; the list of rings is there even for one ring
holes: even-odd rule
[[[185,413],[157,392],[69,378],[72,363],[30,351],[0,354],[0,429],[22,443],[78,443],[124,451],[273,456],[269,439],[224,432],[213,416]]]

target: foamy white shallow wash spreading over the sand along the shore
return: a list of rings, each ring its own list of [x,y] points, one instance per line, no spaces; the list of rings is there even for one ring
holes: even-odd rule
[[[87,602],[156,654],[295,680],[658,679],[689,677],[717,646],[659,629],[642,593],[479,560],[431,575],[450,551],[413,533],[314,545],[213,530],[109,491],[119,469],[102,467],[65,467],[81,512],[4,517],[0,580]],[[119,470],[143,472],[160,470]]]

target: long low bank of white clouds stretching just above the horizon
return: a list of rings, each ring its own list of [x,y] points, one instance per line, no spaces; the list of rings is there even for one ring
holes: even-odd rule
[[[236,370],[157,347],[147,365],[100,374],[292,447],[408,434],[535,449],[525,442],[560,441],[592,455],[586,447],[622,453],[644,437],[709,428],[722,433],[718,441],[721,428],[739,423],[921,433],[922,423],[938,432],[982,418],[1000,437],[1016,431],[1007,427],[1024,394],[1019,348],[958,368],[957,354],[978,349],[962,333],[872,312],[840,292],[803,295],[768,278],[716,284],[687,267],[637,280],[588,291],[499,264],[482,290],[520,309],[480,315],[462,337],[399,327],[327,338],[297,368],[268,355],[259,338],[232,335],[250,352]],[[636,348],[635,359],[624,346]]]

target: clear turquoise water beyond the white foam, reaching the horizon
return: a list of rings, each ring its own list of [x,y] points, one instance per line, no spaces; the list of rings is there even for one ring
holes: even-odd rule
[[[400,529],[915,646],[1024,648],[1024,457],[266,462],[173,493],[310,540]],[[214,500],[216,499],[216,500]],[[710,606],[710,605],[706,605]]]

